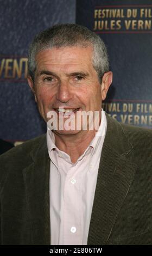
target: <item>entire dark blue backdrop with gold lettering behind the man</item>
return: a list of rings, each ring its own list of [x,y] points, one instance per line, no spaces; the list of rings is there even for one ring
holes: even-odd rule
[[[152,127],[152,0],[0,0],[0,6],[0,138],[25,141],[46,131],[26,81],[29,43],[47,27],[75,21],[107,45],[113,83],[106,111],[123,123]],[[137,15],[129,17],[128,9]]]

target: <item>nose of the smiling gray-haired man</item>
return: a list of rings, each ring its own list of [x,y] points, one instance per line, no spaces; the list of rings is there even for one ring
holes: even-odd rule
[[[68,82],[60,82],[58,87],[58,92],[56,94],[56,99],[60,102],[67,102],[71,99],[72,93],[70,84]]]

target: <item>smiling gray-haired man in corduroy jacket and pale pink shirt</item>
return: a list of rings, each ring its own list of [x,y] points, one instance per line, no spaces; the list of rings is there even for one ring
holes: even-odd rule
[[[102,111],[112,82],[103,41],[78,25],[49,28],[28,72],[48,130],[0,158],[1,244],[151,244],[152,132]]]

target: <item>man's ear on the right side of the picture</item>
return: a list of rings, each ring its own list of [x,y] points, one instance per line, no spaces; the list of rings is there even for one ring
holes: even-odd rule
[[[105,72],[103,79],[102,79],[102,85],[101,85],[101,94],[102,94],[102,100],[105,100],[107,91],[112,83],[112,72],[108,71]]]

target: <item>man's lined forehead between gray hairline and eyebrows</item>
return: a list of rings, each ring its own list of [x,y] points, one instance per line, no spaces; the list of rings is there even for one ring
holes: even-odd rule
[[[36,54],[36,66],[38,69],[48,66],[92,66],[92,47],[61,47],[49,48]]]

